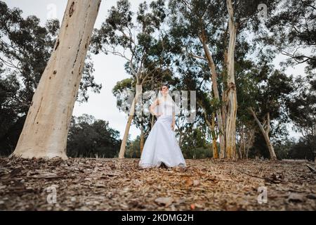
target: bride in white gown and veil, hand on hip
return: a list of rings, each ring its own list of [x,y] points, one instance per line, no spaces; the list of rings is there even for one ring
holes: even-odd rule
[[[169,96],[167,85],[163,85],[161,95],[152,105],[150,113],[158,117],[145,141],[140,156],[139,167],[186,167],[176,135],[174,133],[175,114],[180,110]]]

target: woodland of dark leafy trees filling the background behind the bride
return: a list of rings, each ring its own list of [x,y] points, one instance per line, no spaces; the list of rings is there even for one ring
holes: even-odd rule
[[[263,132],[251,113],[267,131],[277,159],[314,160],[316,150],[316,4],[315,1],[263,1],[268,18],[258,18],[257,1],[237,1],[238,23],[235,49],[237,91],[237,158],[270,158]],[[0,155],[13,153],[22,131],[32,96],[44,72],[60,28],[60,21],[48,20],[43,27],[36,15],[22,17],[18,8],[0,1]],[[197,91],[195,121],[176,120],[176,136],[187,159],[212,158],[220,143],[216,112],[223,106],[225,90],[225,48],[228,27],[225,4],[218,1],[162,0],[140,4],[130,11],[127,0],[117,1],[102,27],[93,30],[77,101],[88,101],[88,90],[100,91],[93,77],[91,54],[126,57],[133,50],[142,70],[137,77],[117,82],[112,92],[117,107],[124,110],[124,90],[157,90],[168,82],[173,90]],[[202,22],[201,22],[202,21]],[[219,101],[214,98],[208,61],[204,58],[199,32],[203,27],[218,74]],[[281,69],[271,62],[287,56]],[[143,59],[146,60],[143,60]],[[144,63],[145,62],[145,63]],[[143,63],[143,64],[142,64]],[[292,76],[287,68],[303,64],[305,72]],[[140,81],[139,81],[140,78]],[[126,158],[139,158],[154,118],[133,117],[141,134],[126,142]],[[289,138],[294,130],[298,137]],[[92,115],[72,117],[67,139],[70,157],[117,158],[121,146],[119,131]]]

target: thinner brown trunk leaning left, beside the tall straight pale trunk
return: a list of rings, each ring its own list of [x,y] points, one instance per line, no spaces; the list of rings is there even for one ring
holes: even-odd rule
[[[211,52],[209,51],[209,47],[206,45],[206,38],[204,36],[204,31],[202,32],[201,37],[199,37],[202,42],[204,53],[206,55],[206,59],[209,63],[209,68],[211,69],[211,82],[214,98],[216,101],[220,102],[220,96],[218,92],[218,84],[217,84],[217,73],[216,66],[213,61],[213,57]],[[218,120],[218,131],[219,131],[219,139],[220,139],[220,158],[225,157],[225,128],[222,120],[222,113],[220,112],[220,108],[216,110],[216,118]]]

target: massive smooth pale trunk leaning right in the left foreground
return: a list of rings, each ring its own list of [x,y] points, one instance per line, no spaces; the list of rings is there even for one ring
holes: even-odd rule
[[[32,98],[13,152],[22,158],[67,158],[67,134],[100,0],[68,1],[60,33]]]

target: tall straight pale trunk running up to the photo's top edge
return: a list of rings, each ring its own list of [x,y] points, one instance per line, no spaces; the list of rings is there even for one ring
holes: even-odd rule
[[[226,118],[225,146],[227,158],[236,158],[236,115],[237,115],[237,94],[235,85],[235,46],[236,46],[236,24],[234,20],[234,12],[232,1],[227,0],[228,8],[228,25],[230,32],[230,41],[228,44],[228,77],[227,77],[227,101],[228,110]]]

